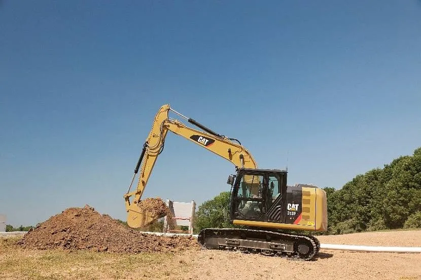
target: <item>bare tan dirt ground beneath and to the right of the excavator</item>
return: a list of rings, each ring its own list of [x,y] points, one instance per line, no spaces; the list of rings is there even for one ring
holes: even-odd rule
[[[322,244],[421,247],[421,230],[319,236]],[[421,254],[321,250],[312,261],[199,251],[178,257],[185,279],[421,279]]]

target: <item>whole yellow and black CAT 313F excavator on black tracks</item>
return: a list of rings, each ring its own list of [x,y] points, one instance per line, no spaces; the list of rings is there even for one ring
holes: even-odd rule
[[[197,129],[170,118],[170,112]],[[169,104],[156,113],[124,194],[130,227],[143,227],[160,218],[137,204],[163,151],[168,131],[225,158],[235,167],[235,174],[227,180],[231,185],[229,222],[233,228],[202,229],[197,242],[203,249],[260,253],[292,260],[311,260],[319,252],[318,239],[304,233],[327,230],[327,199],[323,189],[311,184],[287,185],[287,170],[259,169],[252,154],[237,139],[214,132],[173,110]],[[139,168],[137,188],[130,192]]]

